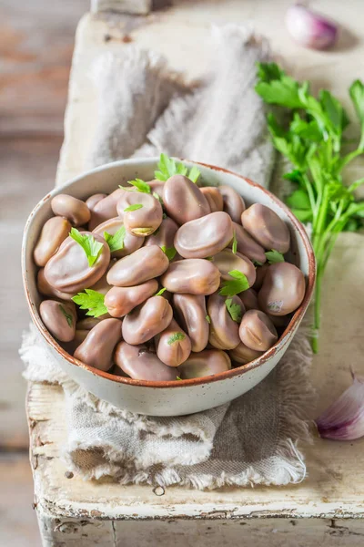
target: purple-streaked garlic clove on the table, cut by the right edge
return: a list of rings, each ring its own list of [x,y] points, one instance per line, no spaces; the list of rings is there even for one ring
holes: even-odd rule
[[[364,436],[364,377],[353,373],[352,377],[351,386],[316,419],[323,439],[354,440]]]

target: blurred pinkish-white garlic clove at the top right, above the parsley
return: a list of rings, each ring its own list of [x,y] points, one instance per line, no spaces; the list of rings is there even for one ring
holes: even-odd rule
[[[326,49],[338,37],[338,27],[334,23],[301,4],[288,7],[286,26],[300,46],[312,49]]]

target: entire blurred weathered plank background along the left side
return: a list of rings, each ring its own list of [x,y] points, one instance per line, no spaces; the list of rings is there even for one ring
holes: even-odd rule
[[[28,466],[29,323],[20,272],[27,215],[54,186],[76,24],[88,0],[0,0],[0,545],[39,545]]]

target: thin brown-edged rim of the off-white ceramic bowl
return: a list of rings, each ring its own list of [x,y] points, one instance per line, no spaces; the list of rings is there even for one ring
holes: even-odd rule
[[[103,370],[98,370],[97,368],[94,368],[93,366],[86,365],[86,363],[83,363],[82,361],[79,361],[76,359],[76,357],[71,356],[66,352],[66,350],[59,346],[59,344],[56,342],[56,339],[49,333],[49,331],[45,328],[45,325],[43,324],[40,315],[38,314],[38,311],[35,306],[35,302],[32,300],[29,292],[29,286],[28,286],[28,273],[26,269],[26,263],[25,263],[25,248],[27,246],[27,235],[28,230],[30,227],[31,222],[33,221],[33,218],[37,214],[38,210],[43,206],[45,201],[48,201],[51,199],[54,195],[58,194],[59,191],[62,191],[63,188],[66,188],[70,184],[74,184],[79,180],[84,179],[86,176],[91,175],[95,172],[100,172],[107,169],[112,169],[116,166],[125,165],[127,163],[129,164],[143,164],[143,163],[153,163],[157,162],[158,158],[151,157],[151,158],[136,158],[136,159],[127,159],[127,160],[117,160],[113,161],[104,165],[101,165],[99,167],[96,167],[92,170],[87,170],[86,172],[78,175],[77,177],[71,179],[70,181],[66,181],[65,184],[62,186],[54,188],[52,191],[48,192],[45,197],[38,201],[38,203],[35,205],[35,208],[30,213],[26,223],[25,223],[25,231],[24,231],[24,237],[23,237],[23,244],[22,244],[22,275],[23,275],[23,284],[25,288],[25,298],[29,307],[30,315],[33,320],[33,323],[35,324],[37,330],[40,332],[41,335],[45,338],[46,342],[52,346],[56,352],[66,359],[66,361],[70,365],[79,366],[81,368],[84,368],[91,374],[93,374],[96,377],[102,377],[106,380],[110,380],[112,382],[116,382],[116,384],[126,384],[128,386],[135,386],[135,387],[152,387],[152,388],[167,388],[167,387],[191,387],[191,386],[198,386],[201,384],[210,384],[213,382],[217,382],[219,380],[237,377],[241,374],[245,374],[250,370],[253,370],[254,368],[258,368],[258,366],[264,365],[270,359],[271,357],[275,356],[275,354],[278,352],[279,346],[282,345],[285,338],[287,338],[289,335],[292,334],[292,331],[295,330],[298,323],[301,321],[303,315],[305,315],[305,312],[308,308],[309,301],[311,299],[314,285],[315,285],[315,279],[316,279],[316,260],[315,260],[315,254],[313,252],[311,243],[308,238],[308,233],[306,232],[305,227],[301,222],[298,221],[298,219],[294,216],[294,214],[289,210],[288,206],[285,205],[282,201],[278,199],[277,196],[275,196],[271,191],[268,191],[266,188],[258,184],[257,182],[251,181],[247,177],[244,177],[243,175],[240,175],[232,170],[227,170],[222,167],[217,167],[216,165],[211,165],[209,163],[204,163],[202,161],[193,161],[193,160],[187,160],[187,159],[181,159],[176,158],[179,161],[187,162],[189,164],[196,164],[201,165],[203,167],[206,167],[209,170],[216,170],[217,172],[222,171],[226,172],[229,175],[232,175],[234,177],[238,177],[238,179],[241,179],[248,183],[249,186],[253,188],[258,188],[259,191],[263,191],[268,197],[275,201],[275,203],[278,205],[280,209],[282,209],[289,218],[289,222],[293,224],[293,226],[296,228],[302,243],[305,246],[306,252],[308,254],[308,276],[307,276],[307,285],[306,285],[306,292],[304,299],[302,303],[298,306],[298,309],[295,311],[294,315],[291,317],[287,327],[283,331],[282,335],[278,338],[276,344],[268,349],[268,351],[264,352],[263,355],[259,356],[257,359],[254,359],[253,361],[250,361],[249,363],[245,365],[240,365],[235,368],[231,368],[230,370],[227,370],[225,372],[220,372],[218,374],[215,374],[213,376],[209,377],[198,377],[198,378],[191,378],[191,379],[184,379],[184,380],[172,380],[172,381],[151,381],[151,380],[136,380],[133,378],[128,377],[118,377],[115,376],[109,372],[104,372]]]

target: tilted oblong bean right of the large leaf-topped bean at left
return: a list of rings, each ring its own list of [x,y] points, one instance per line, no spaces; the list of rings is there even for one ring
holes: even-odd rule
[[[107,283],[116,287],[131,287],[166,272],[167,256],[157,245],[141,247],[135,253],[120,258],[108,271]]]

